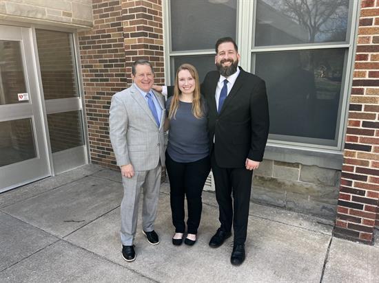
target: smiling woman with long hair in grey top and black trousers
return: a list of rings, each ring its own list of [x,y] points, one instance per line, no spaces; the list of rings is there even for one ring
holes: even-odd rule
[[[201,193],[210,170],[207,104],[200,94],[198,73],[183,64],[176,71],[174,95],[167,100],[169,128],[166,169],[170,179],[170,204],[175,234],[181,245],[185,233],[184,199],[187,198],[186,245],[194,245],[201,219]]]

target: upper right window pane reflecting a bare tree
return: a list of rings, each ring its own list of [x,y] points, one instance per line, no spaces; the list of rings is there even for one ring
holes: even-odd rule
[[[346,40],[349,0],[258,0],[255,45]]]

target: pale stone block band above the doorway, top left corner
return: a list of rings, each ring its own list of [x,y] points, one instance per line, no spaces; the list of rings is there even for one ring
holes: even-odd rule
[[[1,0],[0,19],[92,27],[92,0]]]

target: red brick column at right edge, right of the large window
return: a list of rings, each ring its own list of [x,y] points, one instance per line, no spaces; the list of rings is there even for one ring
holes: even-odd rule
[[[334,234],[371,242],[379,224],[379,0],[362,0]]]

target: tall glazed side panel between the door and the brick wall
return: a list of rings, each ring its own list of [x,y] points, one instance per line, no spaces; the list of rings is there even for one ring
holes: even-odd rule
[[[48,140],[58,174],[88,163],[74,38],[70,32],[35,32]]]

